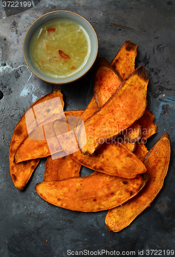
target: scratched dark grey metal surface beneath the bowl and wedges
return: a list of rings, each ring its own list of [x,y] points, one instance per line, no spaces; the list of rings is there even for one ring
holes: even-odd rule
[[[0,256],[68,256],[68,249],[135,251],[135,256],[139,256],[138,250],[144,250],[143,256],[147,256],[149,249],[174,249],[174,0],[34,2],[35,6],[24,12],[5,12],[0,2]],[[94,67],[76,83],[54,86],[32,75],[24,62],[22,44],[27,29],[53,10],[74,11],[92,24],[99,39],[98,59],[103,56],[110,62],[126,40],[139,46],[136,66],[147,69],[148,108],[158,126],[158,133],[147,143],[148,149],[165,131],[170,134],[172,153],[163,190],[151,208],[118,233],[107,230],[106,211],[73,212],[48,205],[36,194],[34,186],[43,181],[46,159],[40,162],[23,192],[13,186],[10,178],[10,139],[26,109],[53,88],[62,90],[65,110],[85,109],[93,94]],[[82,176],[90,172],[83,168]]]

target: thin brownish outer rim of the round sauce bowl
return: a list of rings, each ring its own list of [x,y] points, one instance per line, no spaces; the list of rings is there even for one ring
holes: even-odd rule
[[[48,15],[48,14],[51,14],[51,13],[55,13],[55,12],[67,12],[67,13],[72,13],[72,14],[75,14],[75,15],[77,15],[77,16],[80,16],[83,20],[85,20],[85,21],[90,25],[92,31],[94,32],[95,38],[96,38],[96,53],[95,53],[95,56],[94,56],[94,58],[93,58],[93,62],[91,63],[91,65],[89,66],[89,68],[84,72],[83,75],[80,75],[79,77],[77,77],[77,78],[75,78],[75,79],[71,79],[71,80],[68,80],[68,81],[65,81],[65,82],[53,82],[53,81],[50,81],[49,79],[47,80],[47,79],[41,78],[40,75],[37,75],[37,74],[30,68],[30,66],[29,66],[29,64],[28,64],[28,62],[27,62],[27,60],[26,60],[25,51],[24,51],[26,36],[27,36],[29,30],[32,28],[32,26],[33,26],[38,20],[40,20],[41,18],[43,18],[44,16],[46,16],[46,15]],[[38,17],[38,18],[30,25],[30,27],[28,28],[28,30],[27,30],[27,32],[26,32],[26,34],[25,34],[24,40],[23,40],[23,57],[24,57],[24,60],[25,60],[25,62],[26,62],[26,64],[27,64],[27,67],[30,69],[30,71],[32,72],[32,74],[34,74],[36,77],[40,78],[41,80],[43,80],[43,81],[45,81],[45,82],[47,82],[47,83],[55,84],[55,85],[69,84],[69,83],[75,82],[75,81],[81,79],[82,77],[84,77],[84,76],[87,74],[87,72],[91,69],[91,67],[93,66],[93,64],[94,64],[94,62],[95,62],[95,60],[96,60],[96,57],[97,57],[97,55],[98,55],[98,50],[99,50],[98,36],[96,35],[96,32],[95,32],[93,26],[90,24],[90,22],[89,22],[87,19],[85,19],[85,17],[83,17],[82,15],[80,15],[80,14],[78,14],[78,13],[75,13],[75,12],[72,12],[72,11],[66,11],[66,10],[57,10],[57,11],[53,11],[53,12],[48,12],[48,13],[46,13],[46,14],[44,14],[44,15]]]

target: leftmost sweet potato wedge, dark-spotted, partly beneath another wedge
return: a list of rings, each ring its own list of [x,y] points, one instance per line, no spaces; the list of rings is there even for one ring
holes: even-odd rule
[[[34,102],[30,107],[44,102],[46,100],[60,97],[63,102],[63,95],[61,94],[61,91],[58,89],[55,89],[52,93],[49,93],[48,95],[38,99],[36,102]],[[12,178],[12,181],[14,183],[14,186],[18,190],[23,190],[26,183],[28,182],[32,172],[34,171],[35,167],[37,166],[40,159],[30,160],[23,163],[14,163],[14,154],[16,152],[16,149],[18,145],[21,143],[21,141],[27,136],[27,127],[26,127],[26,119],[25,119],[25,113],[21,117],[20,121],[15,126],[10,147],[9,147],[9,168],[10,168],[10,175]]]

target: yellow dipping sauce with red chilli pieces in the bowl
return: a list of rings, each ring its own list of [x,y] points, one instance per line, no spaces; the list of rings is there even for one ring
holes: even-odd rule
[[[70,20],[53,20],[38,29],[30,44],[34,64],[51,78],[76,74],[90,55],[90,40],[79,24]]]

